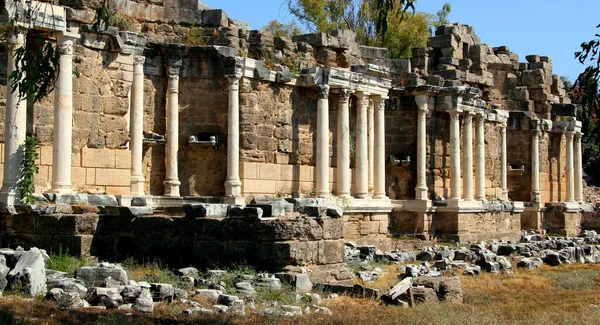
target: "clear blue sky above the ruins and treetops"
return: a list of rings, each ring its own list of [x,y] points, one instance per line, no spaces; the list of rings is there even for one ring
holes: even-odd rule
[[[203,0],[224,9],[229,17],[245,20],[260,29],[273,19],[293,17],[284,0]],[[583,71],[573,53],[580,44],[600,33],[598,0],[418,0],[418,11],[435,14],[452,5],[449,20],[473,25],[483,43],[507,45],[525,61],[528,54],[550,56],[554,73],[571,80]]]

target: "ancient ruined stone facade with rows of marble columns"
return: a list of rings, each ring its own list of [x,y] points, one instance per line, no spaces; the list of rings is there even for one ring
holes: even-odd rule
[[[6,1],[0,50],[3,245],[175,264],[343,262],[344,242],[478,241],[600,228],[583,202],[581,123],[549,57],[473,27],[438,28],[407,60],[351,31],[293,39],[202,2]],[[60,51],[56,88],[19,100],[27,30]],[[41,144],[36,204],[15,197]]]

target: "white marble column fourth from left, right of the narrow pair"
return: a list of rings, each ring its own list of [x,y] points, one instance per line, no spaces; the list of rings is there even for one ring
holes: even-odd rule
[[[164,181],[165,196],[179,197],[179,68],[169,67],[167,85],[167,175]]]

